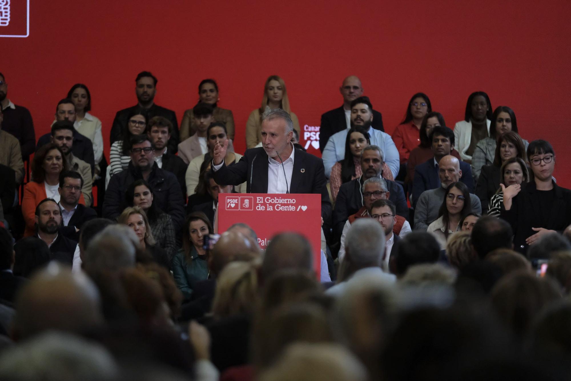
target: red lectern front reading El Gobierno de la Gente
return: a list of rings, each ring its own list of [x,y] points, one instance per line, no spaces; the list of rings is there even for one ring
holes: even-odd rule
[[[218,232],[232,224],[250,225],[258,243],[266,250],[272,236],[291,231],[309,240],[317,274],[321,269],[321,195],[220,193],[218,195]]]

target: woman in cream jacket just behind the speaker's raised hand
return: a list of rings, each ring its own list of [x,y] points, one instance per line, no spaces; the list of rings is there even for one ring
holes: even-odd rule
[[[185,182],[186,191],[189,197],[196,192],[196,186],[198,186],[200,170],[202,169],[203,163],[207,162],[210,164],[212,162],[212,158],[214,158],[214,147],[216,146],[216,142],[224,142],[227,139],[226,126],[220,122],[211,123],[211,125],[207,127],[206,137],[208,152],[192,159],[186,170]],[[238,163],[241,158],[242,155],[233,152],[233,149],[230,147],[230,141],[228,141],[228,150],[224,157],[224,163],[229,166],[231,164]],[[246,183],[239,185],[238,187],[242,193],[246,192]]]

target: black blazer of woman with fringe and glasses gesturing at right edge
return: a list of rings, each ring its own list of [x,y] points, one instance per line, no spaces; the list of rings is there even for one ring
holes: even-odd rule
[[[562,188],[553,182],[555,192],[553,207],[549,214],[551,218],[547,226],[537,226],[536,216],[541,214],[537,202],[538,190],[534,181],[522,184],[521,191],[512,199],[512,207],[505,210],[504,203],[500,205],[500,217],[505,219],[513,229],[513,245],[515,250],[525,252],[528,244],[525,239],[536,234],[532,227],[543,227],[562,232],[571,224],[571,190]]]

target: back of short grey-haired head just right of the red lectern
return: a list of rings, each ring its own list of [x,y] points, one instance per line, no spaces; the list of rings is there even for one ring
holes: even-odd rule
[[[345,251],[357,265],[380,266],[385,252],[385,232],[381,224],[369,218],[355,220],[345,238]]]

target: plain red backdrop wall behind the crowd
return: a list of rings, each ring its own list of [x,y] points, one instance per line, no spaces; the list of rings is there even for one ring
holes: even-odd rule
[[[569,14],[570,2],[531,0],[32,0],[30,36],[0,38],[0,71],[37,136],[74,83],[89,86],[107,154],[115,112],[135,104],[142,70],[159,78],[155,101],[176,110],[179,123],[200,80],[215,78],[220,106],[234,112],[238,150],[271,74],[286,81],[302,129],[341,105],[349,74],[363,81],[388,133],[417,91],[453,126],[468,95],[484,90],[492,106],[514,109],[522,137],[553,143],[555,175],[571,187]]]

